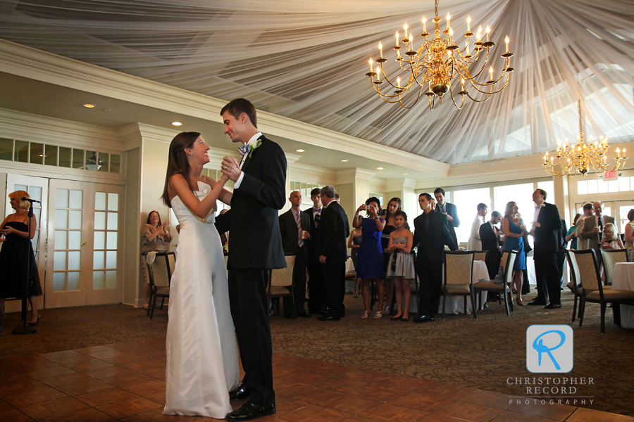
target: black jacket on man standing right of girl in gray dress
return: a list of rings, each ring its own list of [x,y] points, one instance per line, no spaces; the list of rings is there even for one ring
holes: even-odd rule
[[[423,215],[419,215],[414,219],[413,246],[418,245],[416,264],[425,262],[441,264],[442,251],[445,250],[445,245],[449,246],[451,250],[457,250],[458,245],[449,232],[447,216],[442,214],[442,212],[430,212],[428,218],[431,218],[431,220],[429,231],[427,232],[425,232]]]

